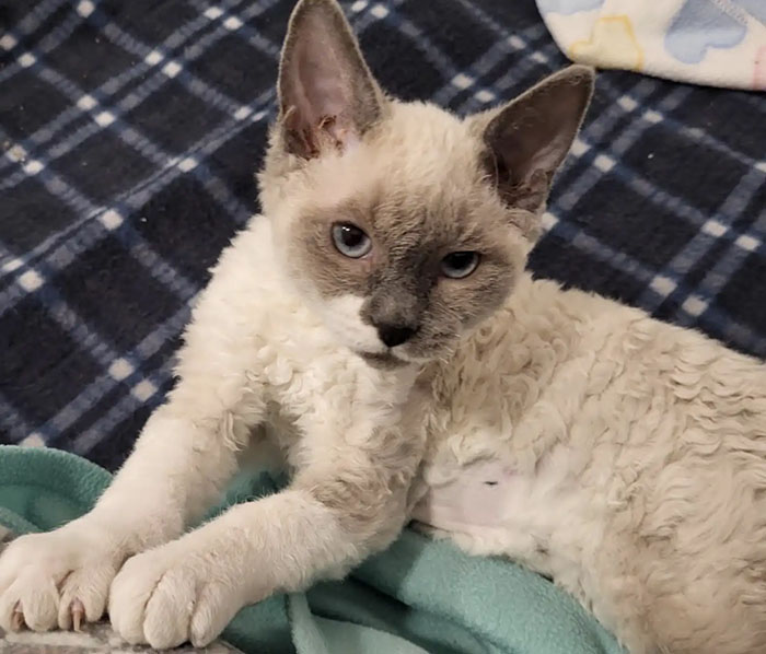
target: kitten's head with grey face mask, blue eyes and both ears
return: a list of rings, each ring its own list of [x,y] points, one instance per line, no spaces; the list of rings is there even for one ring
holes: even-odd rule
[[[335,0],[301,0],[258,175],[286,273],[371,364],[443,357],[512,291],[592,89],[571,66],[466,118],[398,102]]]

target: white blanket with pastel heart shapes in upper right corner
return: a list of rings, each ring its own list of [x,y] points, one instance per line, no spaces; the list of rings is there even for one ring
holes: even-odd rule
[[[537,0],[572,59],[678,82],[766,91],[764,0]]]

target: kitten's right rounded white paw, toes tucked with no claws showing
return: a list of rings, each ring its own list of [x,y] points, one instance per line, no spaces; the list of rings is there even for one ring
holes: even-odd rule
[[[112,584],[112,627],[129,643],[156,650],[207,645],[245,604],[225,563],[187,539],[129,559]]]

